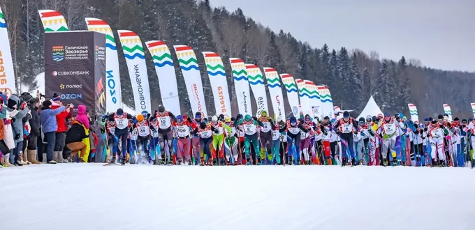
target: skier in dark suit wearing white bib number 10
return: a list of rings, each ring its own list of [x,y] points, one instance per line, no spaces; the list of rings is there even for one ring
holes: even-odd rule
[[[165,141],[168,145],[168,154],[172,155],[173,153],[173,134],[172,134],[172,119],[175,116],[165,110],[163,105],[159,106],[159,111],[155,112],[155,118],[159,121],[159,142],[162,158],[165,158]]]

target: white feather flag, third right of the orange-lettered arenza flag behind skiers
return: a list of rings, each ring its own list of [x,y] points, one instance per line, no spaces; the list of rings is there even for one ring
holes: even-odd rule
[[[279,73],[274,68],[264,67],[264,74],[267,80],[270,101],[274,109],[274,117],[280,116],[285,121],[284,96],[282,96],[282,84],[280,84]]]

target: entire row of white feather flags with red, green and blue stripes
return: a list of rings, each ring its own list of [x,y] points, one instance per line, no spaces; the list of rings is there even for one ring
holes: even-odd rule
[[[38,10],[38,13],[41,16],[45,32],[68,31],[66,20],[61,13],[56,10]],[[89,31],[105,34],[106,87],[108,88],[106,110],[113,112],[122,107],[117,43],[107,22],[92,17],[85,18],[85,21]],[[151,112],[152,105],[142,40],[133,31],[118,30],[117,33],[119,34],[120,44],[122,45],[129,77],[131,78],[136,112]],[[152,56],[156,75],[159,79],[163,106],[174,114],[181,114],[176,72],[168,46],[160,40],[147,41],[145,45]],[[193,114],[202,112],[207,116],[205,95],[195,52],[187,45],[174,45],[173,49],[175,49],[180,70],[187,86]],[[217,114],[231,116],[233,113],[231,112],[231,100],[224,63],[217,53],[203,52],[203,56],[214,95],[215,111]],[[284,109],[284,96],[282,94],[282,87],[284,87],[293,116],[311,114],[320,118],[323,116],[333,117],[335,107],[333,106],[333,100],[327,86],[318,86],[314,82],[305,79],[294,79],[288,73],[279,74],[274,68],[265,67],[263,68],[264,72],[262,72],[258,66],[244,63],[241,59],[230,58],[229,61],[231,63],[240,114],[254,114],[251,109],[249,86],[257,105],[255,114],[259,116],[263,110],[269,111],[268,97],[265,91],[266,80],[275,116],[281,116],[285,119],[287,115]],[[16,92],[13,71],[6,22],[0,9],[0,77],[3,77],[3,80],[0,82],[1,91],[8,91],[8,93]],[[409,104],[408,107],[411,120],[419,121],[416,106]],[[472,111],[475,117],[475,103],[472,103]],[[444,104],[444,113],[448,114],[449,119],[452,118],[451,108],[446,104]]]

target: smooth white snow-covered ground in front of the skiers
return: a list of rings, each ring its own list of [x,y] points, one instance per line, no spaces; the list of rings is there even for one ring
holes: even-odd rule
[[[0,169],[2,229],[473,229],[475,169]],[[470,227],[472,226],[472,227]]]

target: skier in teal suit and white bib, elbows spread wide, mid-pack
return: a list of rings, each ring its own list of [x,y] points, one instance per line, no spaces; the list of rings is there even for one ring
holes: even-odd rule
[[[251,158],[249,157],[251,153],[251,142],[257,157],[257,160],[253,159],[253,161],[254,164],[257,164],[257,162],[261,162],[261,155],[257,154],[260,153],[257,129],[258,127],[262,127],[263,123],[261,121],[258,121],[256,117],[251,118],[251,115],[247,114],[246,116],[244,116],[244,120],[237,120],[235,121],[234,125],[237,126],[241,124],[243,125],[242,128],[244,129],[244,153],[246,153],[246,164],[249,165],[251,160]]]

